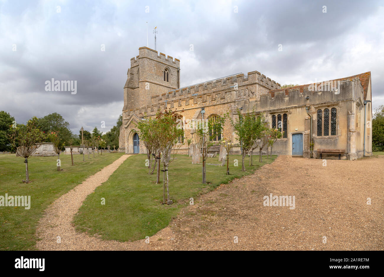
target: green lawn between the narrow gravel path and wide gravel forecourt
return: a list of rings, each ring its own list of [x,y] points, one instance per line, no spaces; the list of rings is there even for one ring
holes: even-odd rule
[[[276,156],[269,159],[263,156],[263,163],[258,162],[258,156],[253,156],[256,166],[252,167],[248,167],[246,158],[247,171],[242,172],[241,156],[230,155],[230,175],[225,175],[226,167],[207,165],[209,184],[203,185],[202,165],[192,165],[190,157],[177,155],[168,171],[170,199],[174,202],[172,205],[161,204],[162,184],[156,184],[155,174],[147,174],[146,158],[146,155],[129,157],[108,181],[86,198],[74,218],[78,231],[97,233],[103,239],[118,241],[134,241],[152,236],[168,226],[180,208],[189,205],[190,197],[196,202],[196,196],[234,178],[253,173],[258,167],[273,162]],[[234,159],[238,159],[238,167],[234,167]],[[218,157],[208,158],[207,163],[219,164]],[[105,198],[105,205],[101,204],[101,198]]]

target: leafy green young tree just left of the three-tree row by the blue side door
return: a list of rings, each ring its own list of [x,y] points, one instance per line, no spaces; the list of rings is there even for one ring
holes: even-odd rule
[[[238,119],[232,120],[233,130],[242,147],[242,171],[245,171],[244,158],[256,143],[262,130],[261,120],[255,120],[252,114],[240,114],[238,110]]]

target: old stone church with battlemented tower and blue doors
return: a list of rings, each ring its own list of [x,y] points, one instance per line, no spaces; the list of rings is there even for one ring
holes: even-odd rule
[[[227,112],[232,119],[238,118],[238,112],[263,115],[269,127],[282,132],[272,154],[309,158],[313,145],[314,158],[320,154],[337,158],[335,152],[341,159],[354,160],[372,155],[371,100],[371,72],[281,88],[276,81],[252,71],[180,87],[180,60],[141,47],[139,55],[131,59],[124,86],[119,151],[146,153],[136,123],[158,109],[184,110],[183,117],[193,120],[202,118],[204,107],[205,119]],[[193,140],[191,130],[184,133],[179,139],[181,154],[188,153],[187,139]],[[238,142],[229,120],[215,140],[222,137]],[[232,151],[240,153],[241,149],[234,147]],[[258,149],[254,151],[258,153]]]

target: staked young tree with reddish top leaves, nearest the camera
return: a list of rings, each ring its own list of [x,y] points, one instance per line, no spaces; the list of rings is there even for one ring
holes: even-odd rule
[[[179,129],[177,127],[177,119],[182,119],[182,115],[178,114],[175,111],[164,110],[164,112],[161,112],[160,110],[156,114],[156,128],[154,129],[154,132],[156,132],[156,136],[159,139],[159,149],[162,153],[162,162],[163,162],[163,204],[172,204],[172,200],[170,200],[169,197],[169,176],[168,176],[168,167],[169,164],[174,160],[174,155],[177,153],[179,148],[174,146],[177,144],[177,138],[184,134],[183,129]],[[174,155],[171,159],[171,152],[173,151]],[[167,202],[165,198],[165,188],[167,188]]]

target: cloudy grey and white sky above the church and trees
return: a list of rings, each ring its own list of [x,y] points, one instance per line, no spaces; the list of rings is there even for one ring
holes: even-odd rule
[[[280,84],[371,71],[372,106],[384,104],[382,1],[0,0],[0,110],[108,131],[147,21],[149,47],[157,26],[157,51],[180,59],[182,87],[254,70]],[[52,78],[77,93],[45,91]]]

